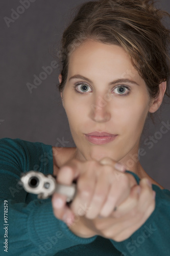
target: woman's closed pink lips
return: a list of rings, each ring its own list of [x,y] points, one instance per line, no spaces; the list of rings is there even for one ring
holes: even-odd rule
[[[106,132],[92,132],[85,134],[85,137],[89,142],[93,144],[102,145],[115,140],[117,134],[110,134]]]

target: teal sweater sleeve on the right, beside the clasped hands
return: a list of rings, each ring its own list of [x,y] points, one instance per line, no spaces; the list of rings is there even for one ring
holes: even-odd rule
[[[132,172],[129,173],[139,183],[139,177]],[[156,204],[148,220],[130,238],[122,242],[110,239],[124,256],[170,255],[170,191],[161,189],[155,184],[152,187],[156,191]]]

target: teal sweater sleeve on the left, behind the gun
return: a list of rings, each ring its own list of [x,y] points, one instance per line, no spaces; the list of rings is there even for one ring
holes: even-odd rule
[[[35,167],[44,174],[52,173],[51,150],[52,146],[39,142],[0,140],[1,255],[53,256],[97,237],[76,236],[54,216],[50,198],[37,199],[18,185],[20,173]]]

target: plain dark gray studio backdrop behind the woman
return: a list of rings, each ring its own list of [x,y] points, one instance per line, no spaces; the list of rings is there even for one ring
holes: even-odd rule
[[[83,2],[36,0],[8,27],[4,17],[11,18],[11,9],[16,11],[21,4],[19,0],[1,0],[0,138],[20,138],[53,146],[56,143],[58,146],[75,146],[56,88],[59,68],[53,69],[52,74],[47,75],[32,93],[26,84],[33,83],[34,75],[39,76],[43,66],[51,65],[54,58],[49,49],[58,45],[69,21],[70,10]],[[160,1],[158,6],[170,13],[168,0]],[[161,112],[158,111],[156,125],[147,122],[143,140],[154,136],[155,142],[152,148],[141,144],[145,155],[140,157],[148,174],[167,189],[170,189],[170,131],[162,134],[162,138],[156,140],[156,137],[161,122],[170,122],[169,110],[168,100]],[[67,142],[63,144],[62,139]]]

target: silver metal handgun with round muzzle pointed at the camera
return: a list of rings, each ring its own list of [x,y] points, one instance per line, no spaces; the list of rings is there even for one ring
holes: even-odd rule
[[[69,203],[76,195],[76,184],[71,185],[59,184],[51,174],[44,175],[35,170],[30,170],[27,173],[21,173],[20,181],[18,182],[23,188],[32,194],[37,194],[38,199],[46,199],[52,196],[55,192],[65,195],[66,201]]]

